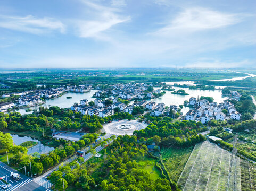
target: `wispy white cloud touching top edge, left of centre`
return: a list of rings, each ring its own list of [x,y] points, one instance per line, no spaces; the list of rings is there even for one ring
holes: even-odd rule
[[[121,12],[120,5],[117,2],[111,6],[98,5],[89,1],[82,1],[87,8],[89,8],[90,16],[92,18],[87,20],[79,20],[77,22],[79,28],[79,36],[88,38],[104,38],[104,31],[111,29],[114,25],[127,22],[130,16],[122,16],[118,14]]]

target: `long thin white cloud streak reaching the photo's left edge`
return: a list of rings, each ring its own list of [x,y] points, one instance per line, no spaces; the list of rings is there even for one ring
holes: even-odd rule
[[[24,17],[0,15],[0,27],[34,34],[42,34],[54,30],[61,33],[65,31],[65,26],[60,21],[47,17],[36,18],[32,15]]]

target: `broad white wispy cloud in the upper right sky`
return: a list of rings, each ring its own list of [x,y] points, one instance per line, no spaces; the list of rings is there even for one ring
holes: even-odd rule
[[[226,27],[240,22],[238,15],[212,11],[207,8],[186,8],[175,19],[153,34],[172,34],[174,32],[194,32],[198,30]]]

